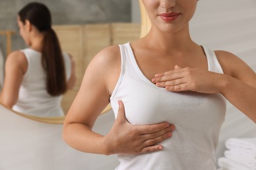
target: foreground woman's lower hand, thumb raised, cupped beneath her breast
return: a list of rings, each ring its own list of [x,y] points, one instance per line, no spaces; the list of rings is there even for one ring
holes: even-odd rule
[[[163,122],[152,125],[132,125],[125,118],[125,108],[118,101],[119,110],[110,133],[104,138],[106,154],[144,154],[163,149],[162,141],[172,135],[175,126]]]

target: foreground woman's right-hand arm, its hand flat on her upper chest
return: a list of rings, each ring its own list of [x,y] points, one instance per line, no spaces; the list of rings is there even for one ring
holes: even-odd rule
[[[256,74],[234,54],[215,52],[224,74],[198,68],[181,68],[156,74],[152,82],[172,92],[221,93],[256,123]]]

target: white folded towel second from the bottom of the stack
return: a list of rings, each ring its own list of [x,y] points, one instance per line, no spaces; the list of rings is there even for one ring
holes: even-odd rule
[[[230,152],[230,150],[226,150],[224,152],[224,156],[230,160],[242,163],[251,169],[256,169],[256,159],[255,158],[249,158],[247,156],[243,156],[242,154],[238,154],[237,152]]]

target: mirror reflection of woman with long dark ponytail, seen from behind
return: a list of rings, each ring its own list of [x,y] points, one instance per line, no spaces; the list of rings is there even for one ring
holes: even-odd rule
[[[18,27],[30,48],[7,57],[1,103],[35,116],[63,116],[60,101],[75,84],[74,61],[61,52],[49,9],[29,3],[18,12]]]

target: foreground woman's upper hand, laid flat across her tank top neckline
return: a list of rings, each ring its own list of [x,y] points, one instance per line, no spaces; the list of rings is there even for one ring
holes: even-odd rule
[[[156,74],[155,78],[152,78],[152,82],[171,92],[219,93],[223,78],[224,75],[220,73],[199,68],[181,68],[175,65],[175,69],[172,71]]]

